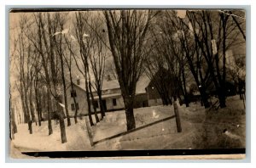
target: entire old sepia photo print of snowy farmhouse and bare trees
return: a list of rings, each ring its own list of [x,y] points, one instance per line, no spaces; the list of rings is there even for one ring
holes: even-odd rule
[[[245,154],[246,11],[13,8],[9,148]]]

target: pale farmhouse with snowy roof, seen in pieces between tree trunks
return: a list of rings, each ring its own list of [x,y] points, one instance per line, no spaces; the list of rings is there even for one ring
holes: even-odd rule
[[[150,80],[148,76],[142,76],[137,82],[136,98],[134,102],[134,108],[148,107],[148,93],[146,87]],[[91,110],[93,110],[93,104],[96,106],[96,110],[100,111],[99,97],[96,90],[92,88],[92,94],[94,96],[94,102],[91,102]],[[78,116],[86,115],[88,113],[87,98],[85,92],[85,81],[77,80],[73,82],[73,91],[71,84],[67,87],[67,104],[69,115],[75,114],[75,104],[73,98],[76,98],[76,106],[78,107]],[[125,109],[124,99],[121,94],[118,80],[107,79],[102,83],[102,102],[106,111],[114,111]]]

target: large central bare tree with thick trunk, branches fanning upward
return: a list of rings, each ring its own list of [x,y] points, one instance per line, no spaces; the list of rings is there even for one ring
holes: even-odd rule
[[[125,103],[127,130],[136,127],[133,104],[136,85],[143,73],[146,36],[153,14],[150,10],[106,10],[108,42]]]

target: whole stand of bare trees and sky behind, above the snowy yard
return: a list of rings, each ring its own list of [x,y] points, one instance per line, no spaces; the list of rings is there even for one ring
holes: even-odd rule
[[[239,86],[245,81],[242,73],[236,73],[245,70],[244,58],[236,59],[233,69],[227,63],[227,51],[245,45],[245,15],[241,10],[38,12],[19,14],[18,18],[11,30],[15,36],[10,64],[17,73],[10,85],[20,93],[29,132],[32,123],[41,126],[42,120],[48,120],[52,134],[55,114],[62,143],[67,142],[64,119],[71,125],[67,85],[74,89],[74,73],[84,78],[93,126],[93,117],[100,122],[105,116],[102,82],[108,71],[114,71],[124,99],[127,130],[136,127],[136,86],[144,74],[154,82],[163,104],[173,104],[177,132],[182,129],[176,99],[183,99],[188,107],[191,86],[200,92],[205,108],[211,105],[208,91],[212,87],[220,108],[224,108],[227,76],[233,76]],[[108,67],[108,59],[113,60],[114,67]],[[93,104],[93,90],[99,97],[100,117]],[[74,104],[76,101],[73,97]],[[77,108],[75,105],[75,123]]]

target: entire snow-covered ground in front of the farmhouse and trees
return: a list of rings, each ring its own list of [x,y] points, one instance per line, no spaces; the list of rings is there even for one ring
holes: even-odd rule
[[[67,143],[61,143],[60,126],[52,121],[53,134],[48,135],[48,123],[33,124],[29,134],[26,124],[18,125],[18,133],[12,141],[21,151],[61,150],[119,150],[119,149],[182,149],[182,148],[245,148],[245,114],[238,97],[228,98],[228,108],[208,111],[200,104],[189,108],[178,106],[183,132],[177,133],[175,119],[165,120],[113,139],[90,146],[85,119],[67,127]],[[174,115],[173,106],[155,106],[135,109],[137,127]],[[125,111],[115,111],[96,126],[90,127],[93,141],[99,141],[126,131]],[[227,130],[227,132],[224,132]]]

